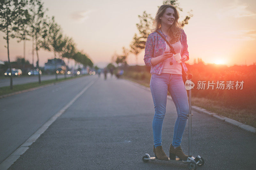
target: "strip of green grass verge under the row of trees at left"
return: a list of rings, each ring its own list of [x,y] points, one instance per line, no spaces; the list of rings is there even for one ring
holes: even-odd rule
[[[82,76],[87,76],[87,75],[82,75]],[[34,83],[26,83],[26,84],[21,84],[21,85],[13,85],[12,90],[10,89],[10,86],[4,86],[4,87],[0,87],[0,96],[4,95],[4,94],[9,94],[9,93],[13,93],[13,92],[18,92],[18,91],[22,91],[22,90],[27,90],[27,89],[39,87],[39,86],[42,86],[42,85],[57,83],[57,82],[69,80],[69,79],[72,79],[72,78],[78,78],[78,77],[82,77],[82,76],[58,78],[57,81],[55,79],[44,80],[44,81],[41,81],[41,84],[39,84],[38,82],[34,82]]]

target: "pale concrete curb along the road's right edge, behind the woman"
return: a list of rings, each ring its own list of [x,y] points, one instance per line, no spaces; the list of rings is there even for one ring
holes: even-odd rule
[[[140,84],[138,84],[138,83],[136,83],[136,82],[133,82],[133,81],[131,81],[131,80],[129,80],[129,79],[125,79],[125,80],[127,80],[129,83],[131,83],[131,84],[133,84],[133,85],[139,86],[139,87],[141,87],[141,88],[143,88],[143,89],[145,89],[145,90],[147,90],[147,91],[150,91],[150,88],[148,88],[148,87],[145,87],[145,86],[143,86],[143,85],[140,85]],[[172,97],[169,96],[169,95],[167,96],[167,98],[170,99],[170,100],[172,100]],[[227,122],[227,123],[229,123],[229,124],[232,124],[232,125],[235,125],[235,126],[241,128],[241,129],[244,129],[244,130],[246,130],[246,131],[249,131],[249,132],[252,132],[252,133],[255,133],[255,134],[256,134],[256,128],[254,128],[254,127],[252,127],[252,126],[246,125],[246,124],[244,124],[244,123],[238,122],[238,121],[233,120],[233,119],[230,119],[230,118],[228,118],[228,117],[224,117],[224,116],[218,115],[218,114],[216,114],[216,113],[213,113],[213,112],[211,112],[211,111],[208,111],[208,110],[206,110],[206,109],[204,109],[204,108],[201,108],[201,107],[198,107],[198,106],[191,106],[191,107],[192,107],[192,109],[194,109],[195,111],[197,111],[197,112],[199,112],[199,113],[204,113],[204,114],[210,115],[210,116],[212,116],[212,117],[215,117],[215,118],[217,118],[217,119],[220,119],[220,120],[223,121],[223,122]]]

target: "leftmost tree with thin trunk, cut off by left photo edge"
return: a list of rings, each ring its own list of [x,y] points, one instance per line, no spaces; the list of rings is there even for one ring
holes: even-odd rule
[[[0,30],[5,34],[4,39],[7,43],[10,70],[12,67],[10,63],[9,40],[10,37],[19,37],[20,26],[27,23],[28,11],[25,9],[27,4],[28,2],[25,0],[0,0]],[[12,76],[10,78],[10,89],[12,89]]]

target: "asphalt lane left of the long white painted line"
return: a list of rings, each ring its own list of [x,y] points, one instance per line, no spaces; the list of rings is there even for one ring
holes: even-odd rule
[[[0,99],[0,162],[95,78],[75,78]]]

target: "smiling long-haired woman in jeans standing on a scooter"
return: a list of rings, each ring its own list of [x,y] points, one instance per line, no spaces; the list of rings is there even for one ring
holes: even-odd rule
[[[148,35],[145,46],[144,62],[151,66],[150,90],[152,93],[155,114],[152,122],[155,156],[161,160],[168,160],[162,148],[162,127],[166,112],[167,91],[171,94],[177,110],[177,119],[174,125],[172,144],[170,145],[170,159],[178,156],[187,159],[180,148],[181,138],[188,119],[188,96],[182,80],[182,68],[188,71],[185,61],[189,59],[187,36],[180,28],[179,12],[171,5],[159,7],[154,25],[154,32]],[[180,53],[181,64],[177,63],[170,52],[170,47],[155,31],[160,32],[174,48]]]

